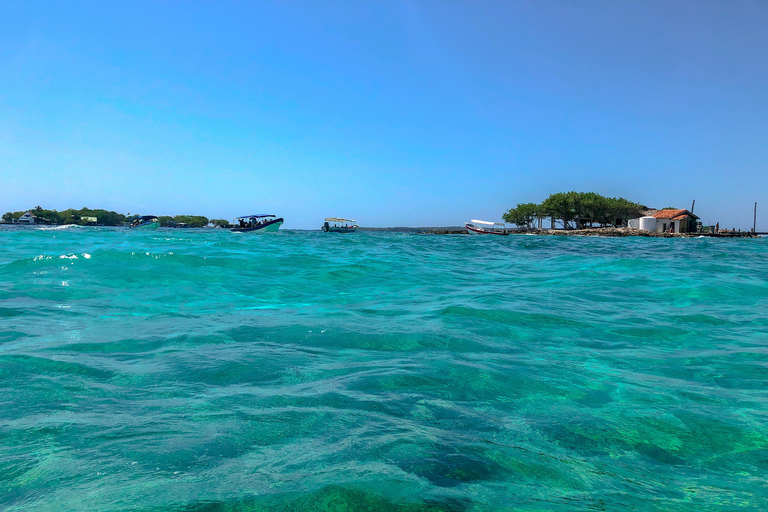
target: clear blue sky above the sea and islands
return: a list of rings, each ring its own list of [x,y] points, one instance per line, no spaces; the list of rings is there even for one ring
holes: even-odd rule
[[[0,210],[768,230],[768,2],[0,2]]]

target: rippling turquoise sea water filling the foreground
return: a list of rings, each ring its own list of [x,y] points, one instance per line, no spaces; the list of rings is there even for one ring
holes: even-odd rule
[[[0,242],[2,510],[768,509],[768,240]]]

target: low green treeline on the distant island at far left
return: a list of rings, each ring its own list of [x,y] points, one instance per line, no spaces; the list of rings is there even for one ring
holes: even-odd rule
[[[96,223],[100,226],[120,226],[133,217],[130,213],[122,214],[100,208],[81,208],[75,210],[46,210],[45,208],[35,207],[18,212],[7,212],[3,215],[4,222],[13,222],[27,212],[32,212],[38,219],[44,219],[44,222],[51,224],[79,224],[86,226],[92,224],[91,218],[96,218]],[[213,225],[226,226],[228,221],[223,219],[208,219],[202,215],[175,215],[173,217],[161,215],[157,218],[160,225],[164,227],[175,226],[177,224],[187,224],[189,227],[202,228],[210,222]],[[39,222],[39,221],[38,221]]]

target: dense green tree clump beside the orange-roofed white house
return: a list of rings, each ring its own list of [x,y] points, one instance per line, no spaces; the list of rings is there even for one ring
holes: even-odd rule
[[[502,217],[505,222],[531,229],[544,218],[554,219],[565,229],[595,224],[615,227],[640,216],[645,209],[623,197],[603,197],[596,192],[558,192],[541,204],[518,204]]]

